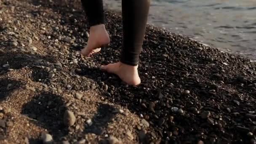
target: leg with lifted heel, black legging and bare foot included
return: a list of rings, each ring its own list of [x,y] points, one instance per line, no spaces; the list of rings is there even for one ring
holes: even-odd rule
[[[104,25],[104,10],[102,0],[81,0],[88,23],[90,26],[90,36],[87,46],[82,49],[84,56],[99,52],[100,47],[109,44],[109,35]]]

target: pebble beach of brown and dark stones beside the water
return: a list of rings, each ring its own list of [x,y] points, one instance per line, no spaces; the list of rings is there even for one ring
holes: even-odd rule
[[[119,59],[116,12],[105,11],[111,44],[84,58],[83,11],[41,4],[0,3],[0,143],[256,142],[250,59],[148,24],[142,83],[128,86],[97,69]]]

